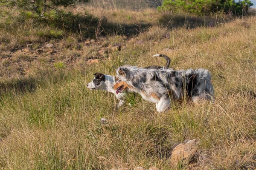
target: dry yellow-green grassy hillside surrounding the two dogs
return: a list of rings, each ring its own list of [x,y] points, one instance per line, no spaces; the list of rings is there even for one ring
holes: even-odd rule
[[[105,16],[96,42],[84,43],[91,38],[79,30],[1,18],[1,169],[165,170],[172,149],[190,139],[200,141],[198,161],[183,170],[256,168],[255,17],[202,27],[204,19],[174,16],[166,27],[153,9],[69,10]],[[112,51],[118,44],[122,50]],[[132,106],[116,110],[113,94],[86,88],[95,72],[165,65],[154,54],[169,56],[174,69],[209,69],[216,102],[183,102],[158,113],[155,104],[130,95]]]

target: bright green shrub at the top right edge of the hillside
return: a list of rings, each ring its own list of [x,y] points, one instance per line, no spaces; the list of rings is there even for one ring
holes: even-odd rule
[[[235,2],[233,0],[163,0],[159,10],[172,11],[173,13],[210,14],[224,12],[234,15],[248,14],[248,9],[253,3],[250,0]]]

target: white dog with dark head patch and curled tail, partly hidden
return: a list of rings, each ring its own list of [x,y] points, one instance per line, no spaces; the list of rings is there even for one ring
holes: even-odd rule
[[[160,67],[158,65],[151,65],[151,66],[145,67],[145,69],[169,68],[169,65],[171,62],[169,57],[163,54],[156,54],[153,57],[163,57],[164,59],[166,59],[166,65],[164,67]],[[116,98],[119,99],[119,105],[116,108],[119,108],[120,106],[122,106],[125,103],[125,95],[127,92],[129,92],[129,90],[123,89],[122,92],[114,90],[113,85],[116,82],[115,76],[106,75],[102,73],[95,73],[94,75],[95,77],[93,78],[93,81],[87,84],[87,88],[89,88],[90,90],[105,90],[115,94]]]

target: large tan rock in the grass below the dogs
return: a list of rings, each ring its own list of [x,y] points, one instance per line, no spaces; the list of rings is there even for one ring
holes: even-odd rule
[[[178,144],[172,150],[172,156],[170,158],[171,166],[177,167],[179,163],[188,164],[198,150],[198,143],[196,139],[193,139],[186,142],[186,144]]]

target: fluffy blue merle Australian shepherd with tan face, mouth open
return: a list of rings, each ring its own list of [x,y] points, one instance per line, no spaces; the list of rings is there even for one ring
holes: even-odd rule
[[[143,99],[156,103],[157,111],[163,112],[170,103],[188,98],[192,102],[200,99],[213,101],[213,86],[208,70],[145,69],[124,65],[116,70],[116,92],[129,90],[139,93]]]

